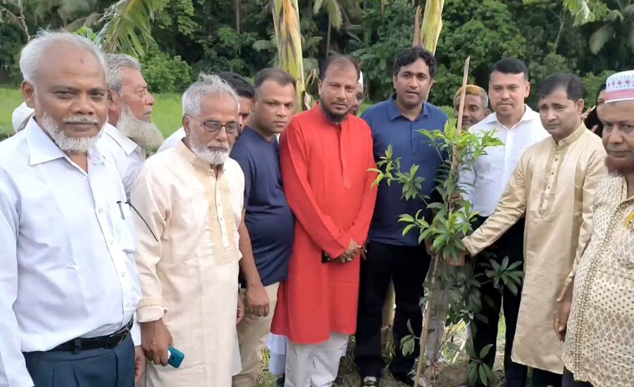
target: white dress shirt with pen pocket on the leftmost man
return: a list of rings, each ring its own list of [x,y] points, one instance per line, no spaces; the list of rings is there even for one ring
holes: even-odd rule
[[[96,146],[86,173],[33,118],[0,143],[0,386],[33,385],[22,352],[112,334],[135,315],[137,239],[126,201]],[[140,344],[136,324],[132,339]]]

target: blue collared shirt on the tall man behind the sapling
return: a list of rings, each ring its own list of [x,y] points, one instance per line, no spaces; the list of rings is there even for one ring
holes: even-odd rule
[[[396,104],[396,94],[392,98],[368,108],[361,118],[368,122],[374,140],[376,161],[385,156],[388,145],[392,145],[393,157],[401,158],[401,170],[409,172],[412,164],[419,166],[416,176],[423,177],[422,194],[430,195],[436,185],[435,179],[442,162],[430,141],[418,129],[444,130],[447,115],[430,103],[423,104],[423,111],[416,120],[404,117]],[[374,216],[370,226],[371,241],[401,246],[417,246],[418,234],[409,231],[403,236],[404,223],[399,223],[399,215],[416,215],[425,203],[421,199],[402,199],[402,186],[387,186],[385,180],[378,186]]]

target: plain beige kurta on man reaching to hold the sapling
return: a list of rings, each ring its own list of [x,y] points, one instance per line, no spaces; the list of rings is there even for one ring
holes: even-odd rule
[[[553,318],[562,284],[592,233],[592,198],[606,173],[604,159],[601,139],[583,124],[559,145],[552,137],[538,142],[522,155],[493,215],[464,239],[472,255],[479,253],[526,214],[514,362],[564,371]]]

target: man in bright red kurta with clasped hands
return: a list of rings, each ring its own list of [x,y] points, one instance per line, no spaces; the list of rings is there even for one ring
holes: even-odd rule
[[[297,218],[271,328],[289,340],[286,387],[335,381],[356,330],[359,253],[376,198],[376,175],[368,172],[375,167],[370,128],[348,114],[359,66],[331,56],[321,74],[320,104],[296,115],[280,139],[282,182]]]

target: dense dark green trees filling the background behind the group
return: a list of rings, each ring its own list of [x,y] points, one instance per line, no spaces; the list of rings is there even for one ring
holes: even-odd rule
[[[200,71],[232,70],[247,77],[275,64],[269,0],[161,0],[152,23],[155,43],[142,58],[154,92],[180,92]],[[26,35],[0,0],[0,82],[17,85],[17,65]],[[98,27],[106,0],[23,1],[30,34],[39,28]],[[394,55],[414,34],[414,13],[424,0],[300,0],[306,72],[328,52],[350,53],[361,62],[373,101],[392,92]],[[446,0],[437,49],[437,83],[430,100],[450,105],[464,58],[471,56],[472,81],[487,87],[490,67],[503,57],[521,58],[537,85],[553,72],[583,77],[592,100],[598,84],[631,67],[634,4],[631,0],[589,1],[597,21],[573,27],[573,16],[554,0]],[[316,9],[318,8],[318,9]],[[4,12],[5,11],[5,12]],[[312,88],[316,88],[313,84]],[[309,89],[310,90],[310,89]],[[314,90],[313,90],[314,91]]]

